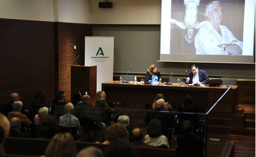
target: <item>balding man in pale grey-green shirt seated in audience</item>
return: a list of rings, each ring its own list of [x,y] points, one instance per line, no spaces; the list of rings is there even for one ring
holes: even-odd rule
[[[73,111],[74,105],[71,102],[64,105],[65,114],[59,117],[59,126],[64,128],[75,127],[77,131],[80,131],[80,122],[77,117],[72,115]]]

